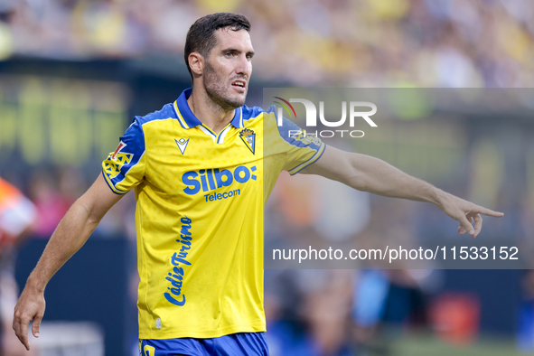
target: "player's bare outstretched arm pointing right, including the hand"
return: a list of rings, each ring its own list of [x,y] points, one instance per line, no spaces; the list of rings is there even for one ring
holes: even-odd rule
[[[437,189],[432,184],[403,173],[378,158],[341,151],[332,146],[326,147],[323,156],[304,168],[301,173],[323,175],[363,192],[432,202],[448,216],[460,222],[460,234],[468,232],[473,238],[482,229],[480,214],[498,218],[504,215]]]

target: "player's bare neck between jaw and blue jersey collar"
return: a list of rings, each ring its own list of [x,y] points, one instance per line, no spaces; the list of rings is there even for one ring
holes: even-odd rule
[[[230,124],[235,114],[235,109],[225,110],[219,104],[213,102],[206,90],[201,86],[192,87],[192,93],[187,99],[187,104],[194,116],[201,120],[202,124],[210,127],[216,134],[219,134],[224,127]]]

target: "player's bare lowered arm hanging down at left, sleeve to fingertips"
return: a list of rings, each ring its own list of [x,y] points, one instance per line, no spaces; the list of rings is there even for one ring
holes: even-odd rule
[[[102,175],[99,175],[89,190],[72,204],[52,234],[14,308],[14,333],[27,350],[30,350],[28,325],[32,320],[33,336],[39,336],[39,326],[45,308],[44,287],[89,239],[98,222],[121,197],[122,195],[111,192]]]

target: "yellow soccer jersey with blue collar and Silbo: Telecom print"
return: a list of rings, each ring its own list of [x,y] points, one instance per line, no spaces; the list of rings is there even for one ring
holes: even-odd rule
[[[136,117],[102,164],[113,192],[136,192],[140,339],[266,330],[264,204],[282,170],[324,150],[290,121],[277,126],[272,108],[236,108],[216,134],[189,108],[191,92]]]

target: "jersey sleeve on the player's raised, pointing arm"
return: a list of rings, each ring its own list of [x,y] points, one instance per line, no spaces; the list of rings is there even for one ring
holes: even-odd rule
[[[274,106],[267,108],[266,114],[270,116],[271,122],[276,120]],[[306,135],[304,130],[288,118],[283,117],[282,125],[276,126],[286,153],[283,169],[289,174],[300,172],[323,155],[325,145],[321,139]]]

